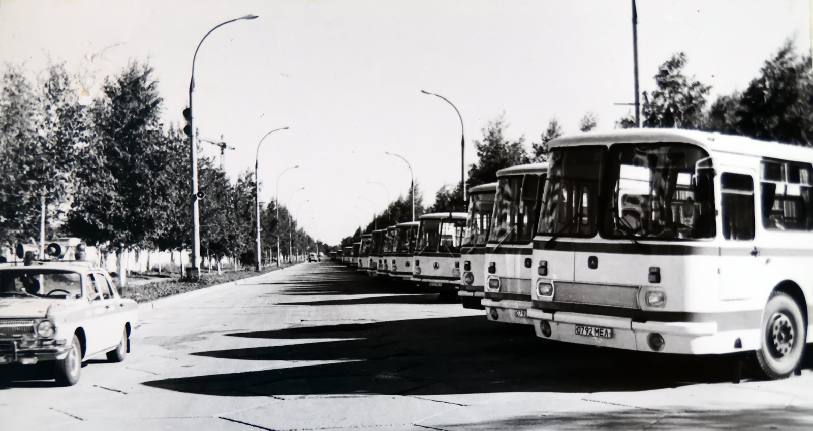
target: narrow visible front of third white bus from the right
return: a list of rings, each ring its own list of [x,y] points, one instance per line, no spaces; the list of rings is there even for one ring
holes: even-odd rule
[[[468,189],[468,224],[463,247],[460,250],[463,274],[460,276],[458,291],[463,308],[484,309],[480,301],[485,297],[483,293],[485,243],[489,239],[496,190],[497,183],[482,184]]]

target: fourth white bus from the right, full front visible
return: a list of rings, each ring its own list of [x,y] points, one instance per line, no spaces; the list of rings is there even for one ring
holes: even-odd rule
[[[460,244],[466,213],[431,213],[420,216],[418,248],[412,266],[413,282],[437,287],[444,297],[456,297],[460,285]]]

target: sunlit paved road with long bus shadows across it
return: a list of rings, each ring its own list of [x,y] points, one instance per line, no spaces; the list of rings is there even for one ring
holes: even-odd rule
[[[132,346],[67,388],[20,367],[0,429],[813,429],[809,370],[546,342],[331,262],[158,300]]]

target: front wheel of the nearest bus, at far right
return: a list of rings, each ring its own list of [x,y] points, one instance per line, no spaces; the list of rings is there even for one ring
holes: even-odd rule
[[[756,351],[764,377],[788,377],[805,350],[806,327],[799,304],[785,292],[775,291],[767,301],[762,320],[762,347]]]

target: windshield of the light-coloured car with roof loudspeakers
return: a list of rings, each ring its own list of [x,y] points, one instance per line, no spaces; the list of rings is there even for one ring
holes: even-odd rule
[[[0,271],[0,295],[80,298],[81,275],[54,269],[7,269]]]

